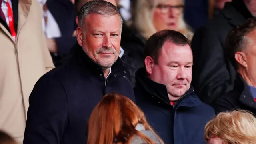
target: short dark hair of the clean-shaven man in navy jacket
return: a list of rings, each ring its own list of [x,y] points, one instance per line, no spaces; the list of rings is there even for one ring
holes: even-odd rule
[[[159,53],[164,43],[172,42],[179,46],[190,46],[190,40],[175,30],[161,30],[148,38],[145,44],[144,56],[150,56],[158,64]],[[191,48],[191,46],[190,46]]]

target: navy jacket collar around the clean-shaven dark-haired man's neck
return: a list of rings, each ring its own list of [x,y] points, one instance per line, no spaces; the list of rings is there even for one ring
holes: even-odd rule
[[[139,90],[144,89],[148,94],[156,96],[159,100],[162,100],[164,103],[171,106],[166,86],[147,78],[145,67],[140,68],[136,72],[135,87],[137,87]],[[200,104],[202,104],[202,102],[194,93],[194,88],[190,86],[190,89],[179,100],[176,101],[175,106],[191,107]]]

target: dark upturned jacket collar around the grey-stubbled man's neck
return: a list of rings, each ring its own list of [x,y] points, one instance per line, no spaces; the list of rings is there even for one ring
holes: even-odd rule
[[[99,64],[94,62],[82,49],[82,47],[76,43],[73,49],[73,56],[72,56],[78,64],[86,70],[86,72],[90,72],[91,74],[102,74],[104,76],[103,70],[100,67]],[[118,57],[116,62],[111,67],[111,74],[116,76],[126,76],[127,75],[127,69],[124,66],[124,62],[121,60],[121,58]]]

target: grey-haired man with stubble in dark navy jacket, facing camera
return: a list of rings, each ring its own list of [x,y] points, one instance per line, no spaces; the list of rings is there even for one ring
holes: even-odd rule
[[[105,94],[135,101],[118,57],[122,20],[116,6],[87,2],[79,21],[72,57],[42,76],[30,94],[23,144],[86,144],[88,118]]]

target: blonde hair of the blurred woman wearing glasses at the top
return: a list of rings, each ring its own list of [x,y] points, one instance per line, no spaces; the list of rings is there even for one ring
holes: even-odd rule
[[[156,6],[162,1],[166,0],[136,0],[132,6],[132,24],[146,39],[157,32],[153,24],[153,14]],[[178,1],[182,4],[184,3],[184,0]],[[189,30],[184,22],[183,11],[179,17],[178,31],[189,40],[193,37],[193,32]]]

